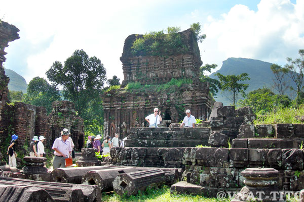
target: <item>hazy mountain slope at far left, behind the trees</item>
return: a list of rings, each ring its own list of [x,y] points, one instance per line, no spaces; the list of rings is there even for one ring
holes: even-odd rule
[[[25,79],[14,72],[13,70],[10,69],[5,69],[5,74],[10,77],[10,82],[9,82],[9,90],[14,90],[14,91],[22,91],[23,93],[26,93],[27,89],[27,83]]]

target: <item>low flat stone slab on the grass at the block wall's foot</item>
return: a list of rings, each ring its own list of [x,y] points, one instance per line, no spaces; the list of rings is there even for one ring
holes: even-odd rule
[[[239,191],[240,188],[216,188],[216,187],[203,187],[196,184],[190,184],[185,181],[180,181],[173,184],[170,188],[171,194],[173,193],[184,193],[184,194],[194,194],[194,195],[204,195],[207,197],[216,197],[219,191],[227,192]]]

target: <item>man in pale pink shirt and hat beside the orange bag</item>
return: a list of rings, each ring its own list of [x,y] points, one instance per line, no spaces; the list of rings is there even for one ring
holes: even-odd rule
[[[53,161],[53,169],[56,168],[64,168],[65,167],[65,159],[72,159],[72,146],[71,142],[68,140],[69,136],[68,129],[64,128],[60,132],[60,137],[56,138],[52,149],[54,149],[54,161]]]

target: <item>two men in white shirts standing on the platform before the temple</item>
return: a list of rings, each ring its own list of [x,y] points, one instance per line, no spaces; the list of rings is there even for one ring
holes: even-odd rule
[[[182,121],[182,124],[180,127],[189,127],[189,128],[194,128],[195,127],[195,117],[191,115],[190,110],[186,110],[186,115]],[[161,116],[161,111],[158,108],[154,108],[154,114],[150,114],[149,116],[145,117],[145,120],[149,124],[149,128],[157,128],[158,124],[161,123],[162,116]]]

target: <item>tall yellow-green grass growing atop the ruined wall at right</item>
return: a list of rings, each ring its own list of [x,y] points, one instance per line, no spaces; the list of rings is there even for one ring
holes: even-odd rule
[[[277,123],[301,123],[296,117],[301,117],[304,115],[304,105],[301,105],[298,109],[296,108],[283,108],[278,107],[272,112],[263,114],[262,112],[257,112],[257,119],[253,121],[255,125],[259,124],[277,124]]]

